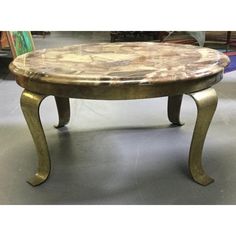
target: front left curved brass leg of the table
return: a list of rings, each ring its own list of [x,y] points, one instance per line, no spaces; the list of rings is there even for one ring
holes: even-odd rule
[[[36,174],[27,181],[33,186],[37,186],[46,181],[50,173],[50,156],[39,116],[39,107],[45,97],[45,95],[35,94],[27,90],[24,90],[21,95],[21,109],[38,154],[38,168]]]

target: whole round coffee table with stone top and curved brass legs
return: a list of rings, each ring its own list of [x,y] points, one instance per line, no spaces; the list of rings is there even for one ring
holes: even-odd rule
[[[229,59],[209,48],[137,42],[81,44],[37,50],[18,56],[9,66],[24,88],[21,108],[38,155],[37,186],[50,173],[50,156],[39,115],[43,99],[55,96],[59,124],[70,119],[69,98],[119,100],[168,96],[168,118],[179,119],[183,94],[198,109],[189,152],[189,172],[201,185],[213,182],[202,166],[202,149],[217,105],[213,88],[223,77]]]

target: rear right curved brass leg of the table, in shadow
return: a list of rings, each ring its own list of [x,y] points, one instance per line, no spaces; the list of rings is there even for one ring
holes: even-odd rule
[[[169,121],[177,126],[184,125],[180,121],[180,108],[182,103],[183,95],[175,95],[168,97],[168,118]]]

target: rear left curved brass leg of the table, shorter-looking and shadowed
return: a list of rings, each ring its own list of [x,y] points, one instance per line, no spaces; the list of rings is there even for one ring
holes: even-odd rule
[[[55,96],[55,101],[57,104],[59,122],[58,125],[55,125],[54,127],[58,129],[64,127],[70,121],[70,101],[69,98],[56,97],[56,96]]]

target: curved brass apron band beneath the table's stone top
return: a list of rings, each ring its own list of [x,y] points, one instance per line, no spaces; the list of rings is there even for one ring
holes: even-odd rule
[[[196,80],[174,81],[159,84],[123,85],[65,85],[45,83],[40,80],[17,76],[17,83],[28,91],[58,97],[127,100],[155,98],[192,93],[213,86],[223,78],[223,73]]]

